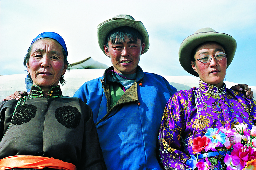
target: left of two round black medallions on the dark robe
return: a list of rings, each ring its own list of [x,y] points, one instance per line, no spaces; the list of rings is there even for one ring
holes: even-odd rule
[[[17,106],[15,114],[12,119],[12,124],[21,125],[29,122],[36,116],[37,108],[32,104],[24,104]]]

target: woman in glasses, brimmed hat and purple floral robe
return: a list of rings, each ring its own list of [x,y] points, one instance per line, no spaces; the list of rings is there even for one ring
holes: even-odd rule
[[[181,43],[181,66],[200,81],[198,88],[176,92],[165,107],[159,132],[165,169],[190,168],[186,161],[195,154],[192,139],[202,137],[207,128],[255,125],[256,102],[223,83],[235,50],[232,36],[211,28],[197,30]]]

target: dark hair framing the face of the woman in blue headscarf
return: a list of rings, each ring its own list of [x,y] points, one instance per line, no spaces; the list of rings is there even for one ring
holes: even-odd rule
[[[52,38],[41,38],[41,39],[52,39]],[[40,40],[40,39],[39,39]],[[53,39],[54,41],[56,41],[55,39]],[[35,41],[36,42],[36,41]],[[35,43],[34,42],[34,43]],[[56,41],[57,43],[58,43],[58,41]],[[33,44],[34,44],[33,43]],[[27,67],[27,64],[28,64],[28,62],[29,62],[29,58],[30,58],[30,54],[31,54],[31,49],[32,49],[32,46],[33,46],[33,44],[31,44],[30,45],[30,47],[28,48],[28,52],[27,52],[27,54],[25,55],[25,57],[24,57],[24,61],[23,61],[23,65],[25,66],[25,67]],[[59,44],[59,43],[58,43]],[[61,46],[62,47],[62,46]],[[67,61],[67,54],[66,54],[66,52],[65,52],[65,50],[64,50],[64,48],[62,47],[62,54],[63,54],[63,60],[64,60],[64,65],[66,64],[68,67],[67,67],[67,69],[68,70],[70,70],[70,64],[68,63],[68,61]],[[33,80],[32,80],[32,78],[31,78],[31,76],[30,75],[28,75],[28,78],[27,78],[27,80],[28,80],[28,82],[29,83],[33,83]],[[59,83],[61,84],[61,85],[64,85],[64,83],[65,83],[66,81],[64,80],[64,78],[63,77],[60,77],[60,79],[59,79]]]

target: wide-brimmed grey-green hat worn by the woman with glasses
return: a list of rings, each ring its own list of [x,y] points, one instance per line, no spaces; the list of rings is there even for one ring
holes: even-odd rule
[[[224,48],[225,53],[227,54],[227,68],[232,62],[235,50],[237,49],[237,42],[235,39],[228,34],[216,32],[209,27],[201,28],[184,39],[179,47],[179,62],[188,73],[199,77],[191,66],[192,51],[198,45],[208,41],[215,41],[221,44]]]

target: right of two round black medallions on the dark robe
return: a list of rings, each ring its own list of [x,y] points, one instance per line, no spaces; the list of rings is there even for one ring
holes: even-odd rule
[[[55,118],[67,128],[76,128],[80,123],[81,113],[76,107],[63,106],[56,109]]]

